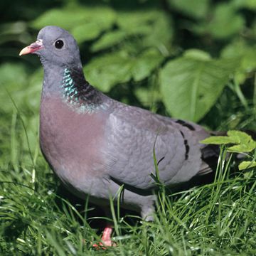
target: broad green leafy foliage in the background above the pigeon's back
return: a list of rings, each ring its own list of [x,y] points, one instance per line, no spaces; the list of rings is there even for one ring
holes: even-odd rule
[[[189,3],[169,0],[168,4],[171,11],[195,19],[185,21],[186,29],[230,41],[245,29],[245,17],[240,9],[254,9],[250,1],[228,1],[213,8],[210,0]],[[90,51],[96,55],[85,65],[85,74],[103,92],[110,92],[119,84],[149,80],[159,73],[161,97],[158,100],[163,101],[174,117],[202,119],[230,79],[234,78],[239,86],[256,68],[255,49],[243,36],[240,41],[227,44],[220,52],[221,58],[201,59],[203,52],[192,49],[177,55],[172,43],[172,17],[157,5],[154,9],[148,6],[146,11],[132,8],[119,11],[114,5],[71,3],[46,11],[31,26],[39,29],[48,24],[67,28],[78,43],[91,41]],[[163,61],[174,54],[176,58],[163,67]]]

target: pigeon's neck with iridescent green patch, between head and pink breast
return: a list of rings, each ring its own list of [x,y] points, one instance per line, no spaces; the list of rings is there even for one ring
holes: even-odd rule
[[[79,112],[93,112],[102,105],[104,95],[85,80],[82,65],[44,69],[42,97],[61,97]]]

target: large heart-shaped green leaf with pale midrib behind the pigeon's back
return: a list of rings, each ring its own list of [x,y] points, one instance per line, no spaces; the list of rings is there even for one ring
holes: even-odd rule
[[[198,121],[213,106],[238,60],[212,60],[205,53],[169,61],[160,74],[164,105],[173,117]]]

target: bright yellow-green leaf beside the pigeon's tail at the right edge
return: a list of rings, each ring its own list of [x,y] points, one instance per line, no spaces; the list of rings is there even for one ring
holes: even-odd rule
[[[208,137],[201,141],[203,144],[235,144],[229,146],[228,151],[230,152],[250,152],[256,149],[256,142],[252,139],[249,134],[240,131],[228,131],[228,136],[213,136]]]

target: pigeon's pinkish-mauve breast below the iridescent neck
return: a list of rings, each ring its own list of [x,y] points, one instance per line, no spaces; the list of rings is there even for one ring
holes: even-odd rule
[[[64,183],[79,190],[82,180],[90,183],[105,175],[105,121],[103,112],[78,113],[61,99],[42,100],[41,150]]]

